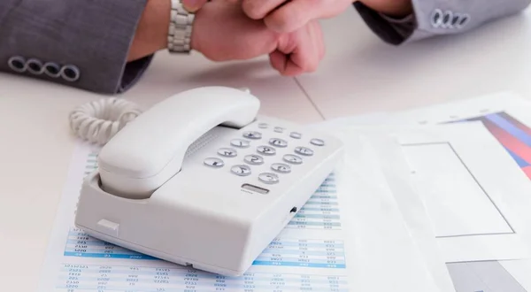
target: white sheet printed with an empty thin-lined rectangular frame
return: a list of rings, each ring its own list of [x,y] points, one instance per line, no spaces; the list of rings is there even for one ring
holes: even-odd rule
[[[531,185],[481,123],[401,127],[393,134],[446,262],[529,257]]]

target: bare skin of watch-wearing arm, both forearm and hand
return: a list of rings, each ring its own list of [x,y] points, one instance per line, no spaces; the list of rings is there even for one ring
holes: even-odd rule
[[[149,0],[127,60],[165,50],[171,3]],[[264,21],[250,19],[242,5],[214,0],[196,12],[191,48],[213,61],[245,60],[269,55],[282,75],[313,72],[325,54],[322,33],[311,22],[289,34],[274,32]]]

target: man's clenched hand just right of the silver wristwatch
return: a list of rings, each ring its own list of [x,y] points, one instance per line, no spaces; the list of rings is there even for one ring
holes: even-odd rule
[[[196,12],[191,42],[192,49],[214,61],[269,55],[273,68],[289,76],[315,71],[325,54],[317,22],[278,33],[264,21],[250,19],[241,5],[223,0],[206,3]]]

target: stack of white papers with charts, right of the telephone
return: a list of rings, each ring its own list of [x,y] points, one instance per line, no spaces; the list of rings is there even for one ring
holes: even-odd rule
[[[504,93],[316,127],[371,143],[440,290],[531,291],[529,112]]]

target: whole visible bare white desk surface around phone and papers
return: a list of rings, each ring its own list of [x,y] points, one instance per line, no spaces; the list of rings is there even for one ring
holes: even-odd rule
[[[198,55],[161,53],[122,97],[149,107],[187,88],[247,87],[261,100],[262,114],[303,124],[502,90],[531,97],[530,13],[466,35],[393,47],[350,10],[323,21],[327,57],[316,73],[283,78],[266,58],[212,64]],[[5,290],[34,291],[72,157],[68,112],[102,96],[0,76],[0,279]]]

